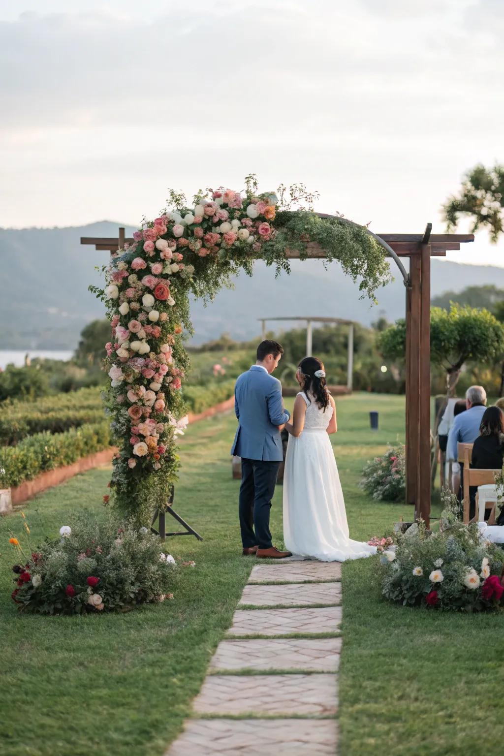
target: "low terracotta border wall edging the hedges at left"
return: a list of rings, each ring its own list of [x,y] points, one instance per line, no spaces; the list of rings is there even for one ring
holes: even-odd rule
[[[199,414],[189,414],[189,423],[197,423],[199,420],[206,420],[207,417],[213,417],[221,412],[227,412],[234,407],[234,397],[221,401],[219,404],[215,404],[214,407],[209,407],[204,412]],[[94,467],[100,467],[110,463],[116,454],[116,447],[111,446],[104,451],[98,451],[96,454],[89,454],[88,457],[82,457],[71,465],[65,465],[63,467],[57,467],[54,470],[48,470],[42,472],[39,476],[33,480],[26,480],[18,485],[16,488],[11,488],[11,500],[13,506],[20,504],[23,501],[32,499],[36,494],[42,493],[46,488],[53,488],[55,485],[60,485],[64,481],[73,478],[73,476],[79,475],[79,472],[87,472],[94,469]]]

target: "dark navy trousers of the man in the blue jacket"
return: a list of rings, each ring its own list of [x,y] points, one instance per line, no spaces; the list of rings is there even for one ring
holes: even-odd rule
[[[242,458],[240,485],[240,530],[243,548],[271,547],[270,510],[280,462]],[[255,534],[254,534],[255,531]]]

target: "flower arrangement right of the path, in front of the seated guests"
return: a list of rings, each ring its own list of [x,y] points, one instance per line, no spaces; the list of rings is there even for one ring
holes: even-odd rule
[[[454,498],[454,497],[453,497]],[[457,519],[458,501],[444,494],[443,530],[413,525],[380,557],[382,593],[403,606],[484,612],[502,607],[504,551],[481,538],[477,523]]]

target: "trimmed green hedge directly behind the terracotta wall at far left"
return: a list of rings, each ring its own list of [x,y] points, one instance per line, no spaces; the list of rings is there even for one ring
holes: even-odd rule
[[[81,457],[112,445],[110,423],[89,423],[65,433],[37,433],[24,438],[17,446],[0,449],[0,486],[14,488],[41,472],[70,465]]]

